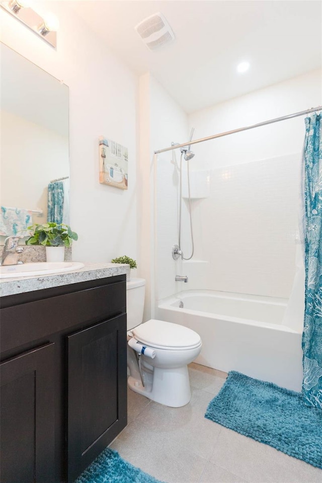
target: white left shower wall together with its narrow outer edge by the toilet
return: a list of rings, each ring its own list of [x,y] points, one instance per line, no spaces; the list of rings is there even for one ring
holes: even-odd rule
[[[172,152],[156,157],[153,151],[172,141],[184,141],[187,132],[188,116],[183,109],[150,74],[141,76],[138,222],[140,275],[147,280],[145,320],[153,316],[154,297],[163,298],[177,290],[175,276],[181,273],[180,262],[171,256],[172,246],[178,243],[178,172]]]

